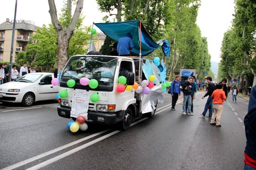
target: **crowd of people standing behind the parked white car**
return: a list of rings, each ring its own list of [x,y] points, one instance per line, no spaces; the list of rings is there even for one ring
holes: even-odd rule
[[[28,66],[27,63],[23,63],[23,66],[20,67],[17,71],[17,66],[13,65],[11,69],[11,81],[16,80],[17,77],[23,76],[28,73],[42,72],[42,67],[39,66],[37,70],[35,67]],[[8,82],[9,69],[6,63],[0,63],[0,85]]]

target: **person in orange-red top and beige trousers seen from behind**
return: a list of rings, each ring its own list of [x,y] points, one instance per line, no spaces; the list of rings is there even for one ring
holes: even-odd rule
[[[211,125],[215,125],[214,119],[216,117],[216,127],[221,127],[220,116],[223,108],[223,101],[226,100],[225,92],[222,90],[223,84],[218,83],[217,90],[212,93],[214,114],[210,120]]]

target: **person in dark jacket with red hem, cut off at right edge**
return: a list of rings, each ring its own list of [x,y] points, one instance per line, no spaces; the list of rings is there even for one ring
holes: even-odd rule
[[[245,170],[256,170],[256,86],[251,90],[248,112],[243,120],[247,139],[244,162]]]

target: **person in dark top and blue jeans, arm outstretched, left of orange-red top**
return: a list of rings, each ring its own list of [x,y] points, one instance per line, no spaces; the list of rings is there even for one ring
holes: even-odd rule
[[[207,99],[207,102],[204,106],[204,111],[203,113],[200,114],[200,116],[205,117],[207,110],[209,110],[209,118],[212,118],[212,93],[215,90],[215,86],[214,83],[212,82],[212,77],[207,77],[207,83],[208,83],[208,88],[207,88],[207,93],[204,94],[204,96],[202,97],[202,99],[204,99],[204,97],[209,96]]]

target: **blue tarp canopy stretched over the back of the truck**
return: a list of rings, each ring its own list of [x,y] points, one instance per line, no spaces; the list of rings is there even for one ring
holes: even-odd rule
[[[132,34],[133,49],[135,54],[140,54],[140,20],[110,22],[110,23],[94,23],[104,34],[112,40],[118,41],[119,38],[126,36],[128,32]],[[155,42],[149,35],[148,31],[141,23],[141,55],[146,56],[152,53],[155,49],[162,46],[163,53],[169,57],[170,45],[167,40]]]

